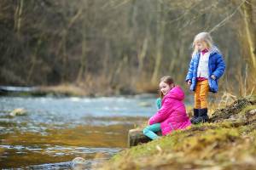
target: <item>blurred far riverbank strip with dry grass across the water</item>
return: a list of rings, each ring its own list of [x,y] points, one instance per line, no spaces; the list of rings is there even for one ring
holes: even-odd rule
[[[56,97],[101,97],[135,94],[156,94],[157,88],[131,89],[131,88],[88,88],[74,84],[61,84],[57,86],[13,87],[0,86],[0,95],[3,96],[56,96]]]

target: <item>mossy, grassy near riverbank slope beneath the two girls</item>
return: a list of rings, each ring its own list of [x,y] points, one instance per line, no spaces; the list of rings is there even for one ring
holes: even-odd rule
[[[256,96],[214,111],[210,120],[124,150],[99,169],[255,169]]]

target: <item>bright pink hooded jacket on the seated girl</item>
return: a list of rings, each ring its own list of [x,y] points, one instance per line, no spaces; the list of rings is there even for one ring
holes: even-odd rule
[[[183,89],[176,86],[162,99],[161,108],[150,117],[149,125],[160,122],[163,135],[176,129],[184,129],[191,125],[183,104]]]

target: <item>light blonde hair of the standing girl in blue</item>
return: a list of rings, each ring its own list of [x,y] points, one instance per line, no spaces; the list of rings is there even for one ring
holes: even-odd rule
[[[192,44],[192,47],[193,47],[194,51],[192,53],[192,56],[198,52],[198,49],[195,46],[196,42],[206,42],[208,49],[211,50],[213,48],[213,41],[212,41],[212,37],[211,37],[210,33],[200,32],[194,38],[194,41],[193,41],[193,44]]]

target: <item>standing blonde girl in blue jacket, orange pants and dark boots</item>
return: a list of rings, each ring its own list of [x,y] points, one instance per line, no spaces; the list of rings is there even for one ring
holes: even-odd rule
[[[213,46],[212,37],[208,32],[195,36],[193,48],[186,82],[190,85],[190,90],[195,91],[194,117],[191,122],[197,124],[208,122],[208,92],[218,92],[218,79],[224,74],[225,64],[222,54]]]

